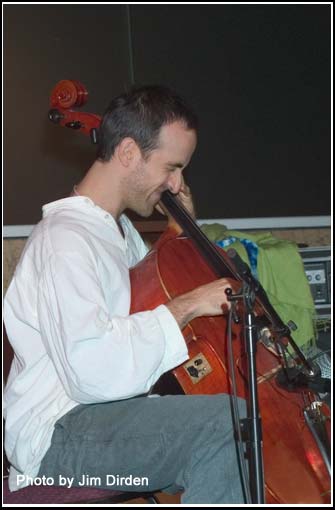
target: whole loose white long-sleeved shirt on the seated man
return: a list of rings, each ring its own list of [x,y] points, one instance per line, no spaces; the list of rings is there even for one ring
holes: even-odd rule
[[[126,216],[76,196],[43,207],[8,288],[15,351],[4,392],[5,448],[17,474],[37,476],[56,421],[78,404],[147,393],[188,358],[165,305],[129,315],[129,268],[147,248]],[[22,477],[23,478],[23,477]]]

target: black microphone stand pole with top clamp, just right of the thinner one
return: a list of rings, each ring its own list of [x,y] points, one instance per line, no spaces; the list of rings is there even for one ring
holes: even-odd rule
[[[243,300],[245,309],[244,341],[248,360],[248,415],[241,420],[242,429],[246,434],[249,451],[249,479],[252,503],[265,503],[264,468],[262,454],[262,424],[259,413],[256,351],[257,351],[257,326],[253,312],[255,304],[255,291],[252,282],[243,281],[242,291],[238,294],[228,294],[228,301]],[[233,306],[233,305],[232,305]]]

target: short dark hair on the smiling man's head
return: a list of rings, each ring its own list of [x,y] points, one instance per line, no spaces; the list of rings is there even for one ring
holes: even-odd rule
[[[131,137],[143,157],[157,148],[160,129],[175,121],[198,129],[198,119],[173,90],[160,85],[133,88],[110,103],[99,128],[97,157],[109,161],[123,138]]]

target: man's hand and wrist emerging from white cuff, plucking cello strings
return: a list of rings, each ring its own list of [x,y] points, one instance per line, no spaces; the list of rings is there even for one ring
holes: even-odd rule
[[[166,304],[181,329],[195,317],[222,315],[230,309],[225,291],[232,289],[228,278],[201,285]]]

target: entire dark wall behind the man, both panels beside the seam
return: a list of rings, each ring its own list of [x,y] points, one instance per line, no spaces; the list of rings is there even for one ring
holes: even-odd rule
[[[7,4],[5,224],[36,223],[94,159],[48,120],[53,86],[82,81],[82,110],[100,114],[132,60],[137,84],[176,88],[200,116],[187,172],[199,217],[330,213],[329,5]]]

